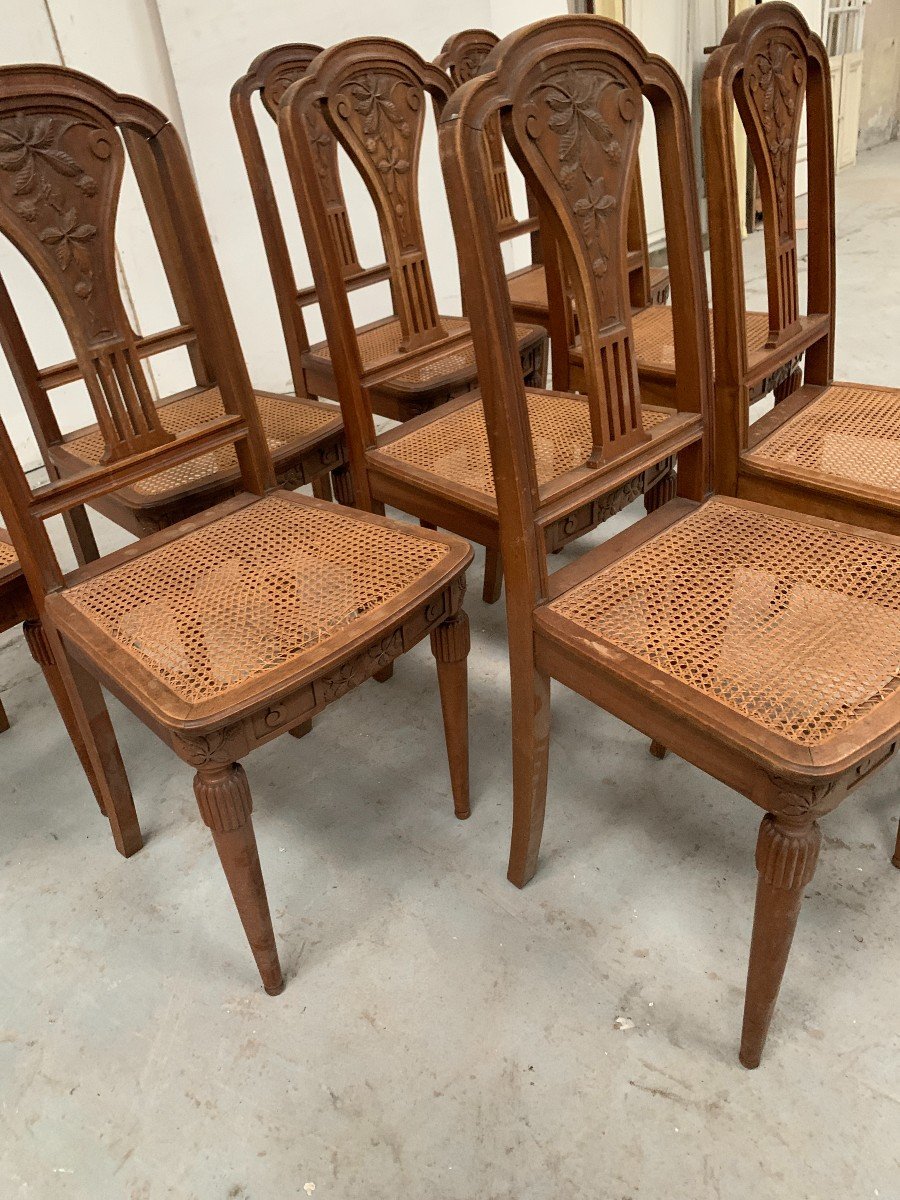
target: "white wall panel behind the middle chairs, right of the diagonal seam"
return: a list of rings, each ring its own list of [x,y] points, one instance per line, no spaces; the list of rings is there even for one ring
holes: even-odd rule
[[[290,386],[287,355],[281,338],[275,300],[263,256],[253,205],[238,142],[228,113],[228,91],[251,60],[280,42],[331,46],[348,37],[377,34],[407,42],[424,58],[438,54],[446,37],[458,29],[510,29],[552,12],[564,12],[563,0],[460,0],[452,8],[421,0],[385,0],[384,4],[317,5],[299,8],[284,0],[222,0],[210,28],[205,5],[158,0],[160,17],[184,112],[191,156],[212,227],[216,253],[238,322],[254,383],[283,390]],[[263,131],[276,180],[284,224],[301,282],[311,282],[306,254],[293,208],[277,133],[266,116]],[[424,222],[437,300],[443,312],[458,312],[458,268],[449,214],[444,203],[433,122],[426,125],[421,156]],[[352,172],[344,185],[354,221],[356,247],[364,264],[383,258],[378,227],[368,196]],[[371,320],[389,311],[386,286],[353,298],[358,320]],[[310,336],[323,336],[313,310]]]

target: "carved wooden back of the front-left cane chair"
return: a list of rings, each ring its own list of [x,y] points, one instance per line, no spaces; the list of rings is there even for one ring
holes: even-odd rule
[[[122,301],[115,220],[126,157],[134,166],[164,264],[190,324],[139,338]],[[0,68],[0,232],[54,301],[73,362],[40,372],[8,292],[0,286],[0,343],[24,407],[48,439],[59,425],[47,390],[83,378],[104,454],[100,466],[34,492],[0,424],[0,511],[38,610],[62,574],[43,522],[97,497],[233,443],[246,491],[274,486],[272,464],[181,140],[156,108],[55,66]],[[167,432],[142,359],[196,346],[224,414]]]

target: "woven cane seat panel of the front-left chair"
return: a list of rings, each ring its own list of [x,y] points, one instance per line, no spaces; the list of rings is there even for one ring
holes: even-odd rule
[[[276,493],[70,588],[66,599],[197,704],[388,604],[446,552]]]

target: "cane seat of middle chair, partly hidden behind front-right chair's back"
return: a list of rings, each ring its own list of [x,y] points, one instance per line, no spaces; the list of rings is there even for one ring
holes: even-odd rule
[[[547,484],[566,470],[583,467],[593,449],[587,400],[545,391],[529,391],[526,398],[538,482]],[[650,430],[672,416],[673,409],[644,408],[643,427]],[[432,475],[474,487],[486,496],[494,494],[485,410],[480,400],[446,416],[438,415],[413,433],[380,446],[380,452]]]

